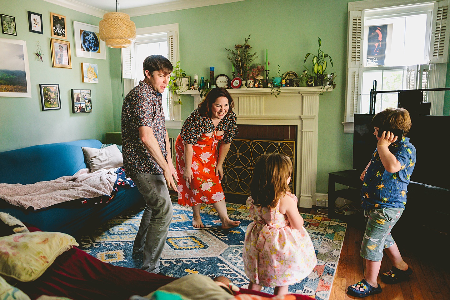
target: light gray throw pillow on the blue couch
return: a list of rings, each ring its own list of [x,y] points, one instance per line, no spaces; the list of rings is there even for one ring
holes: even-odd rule
[[[81,149],[83,149],[91,172],[123,166],[122,153],[116,144],[103,149],[88,147],[81,147]]]

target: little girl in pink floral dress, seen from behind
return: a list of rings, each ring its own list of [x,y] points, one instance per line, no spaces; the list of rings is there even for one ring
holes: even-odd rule
[[[248,288],[275,287],[275,295],[284,295],[290,284],[314,269],[314,246],[288,186],[289,157],[279,153],[258,157],[253,174],[247,199],[253,222],[247,227],[242,253]]]

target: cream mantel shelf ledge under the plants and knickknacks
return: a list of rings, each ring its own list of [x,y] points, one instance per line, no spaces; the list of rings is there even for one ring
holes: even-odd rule
[[[292,94],[321,94],[326,91],[332,91],[331,86],[306,86],[306,87],[291,87],[280,88],[280,95],[292,95]],[[252,89],[227,89],[231,95],[270,95],[272,88],[252,88]],[[186,90],[181,95],[198,96],[200,92],[198,90]]]

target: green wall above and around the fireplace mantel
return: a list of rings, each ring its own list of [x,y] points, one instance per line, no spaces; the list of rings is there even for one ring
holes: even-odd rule
[[[347,51],[347,0],[274,1],[247,0],[229,4],[157,13],[131,18],[136,27],[179,23],[181,67],[193,78],[195,73],[209,78],[209,67],[215,73],[231,76],[231,64],[225,48],[243,44],[251,34],[253,50],[265,62],[269,49],[270,76],[276,72],[302,72],[303,58],[317,51],[317,37],[322,49],[333,57],[337,87],[320,97],[319,156],[317,192],[327,193],[328,172],[351,168],[352,134],[344,134],[345,62]],[[111,51],[112,94],[119,94],[120,51]],[[120,131],[121,99],[113,97],[114,126]],[[193,110],[193,98],[183,96],[182,118]],[[170,130],[175,136],[178,130]]]

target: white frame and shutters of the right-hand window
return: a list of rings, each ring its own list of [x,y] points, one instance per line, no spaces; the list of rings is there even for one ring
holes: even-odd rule
[[[442,12],[447,12],[449,1],[426,1],[426,0],[384,0],[380,4],[378,0],[365,0],[349,2],[348,4],[348,36],[347,36],[347,78],[346,78],[346,104],[345,115],[342,125],[344,125],[344,132],[353,132],[353,114],[360,111],[361,91],[362,91],[362,72],[367,67],[364,67],[364,50],[365,50],[365,11],[372,9],[383,9],[388,7],[411,6],[414,4],[433,4],[431,27],[429,33],[430,51],[428,55],[428,62],[432,64],[429,71],[429,88],[445,86],[446,71],[448,63],[448,47],[450,26],[446,26],[445,31],[437,32],[439,24],[446,25],[450,22],[450,16],[442,17]],[[441,19],[439,14],[441,12]],[[405,12],[409,13],[409,12]],[[373,18],[373,13],[370,12],[370,18]],[[377,17],[381,18],[381,17]],[[440,23],[439,23],[440,22]],[[442,26],[443,28],[443,26]],[[435,34],[437,36],[438,44],[436,42]],[[440,42],[440,43],[439,43]],[[437,55],[433,54],[433,47],[436,53],[437,45],[439,52]],[[401,66],[398,66],[401,67]],[[375,70],[378,67],[370,67]],[[432,103],[432,114],[442,115],[444,105],[444,93],[433,92],[428,95],[428,101]]]

